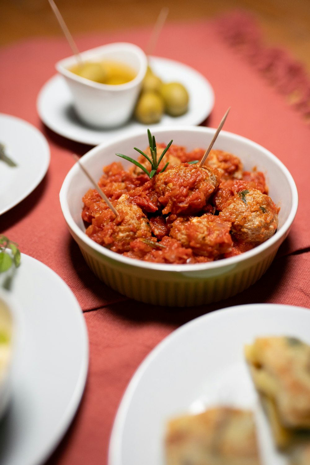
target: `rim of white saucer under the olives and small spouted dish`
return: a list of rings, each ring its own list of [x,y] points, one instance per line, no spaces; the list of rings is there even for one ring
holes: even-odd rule
[[[195,80],[197,80],[200,83],[200,89],[203,89],[205,95],[207,98],[204,99],[204,105],[197,108],[194,113],[193,111],[189,110],[188,113],[181,117],[177,118],[172,118],[165,116],[162,121],[160,121],[157,125],[151,125],[152,128],[160,127],[160,126],[176,126],[178,124],[181,125],[189,125],[189,126],[197,126],[198,124],[202,123],[211,113],[213,106],[214,106],[214,101],[215,101],[215,96],[214,96],[214,90],[210,84],[210,82],[201,74],[199,73],[196,69],[192,68],[191,66],[188,66],[184,63],[181,63],[176,60],[170,60],[167,58],[160,58],[160,57],[155,57],[151,56],[149,57],[150,64],[155,68],[155,71],[157,69],[157,66],[169,66],[169,67],[176,67],[177,69],[183,70],[185,73],[189,73],[190,76],[194,77]],[[162,76],[163,80],[165,80],[165,75],[163,73]],[[176,75],[176,80],[177,80],[177,75]],[[62,88],[66,89],[66,91],[63,90],[63,92],[66,92],[66,98],[70,99],[70,91],[69,89],[66,88],[65,82],[59,74],[55,74],[52,78],[47,80],[47,82],[43,85],[41,88],[38,98],[37,98],[37,112],[40,116],[40,119],[43,121],[43,123],[49,127],[53,132],[66,137],[70,140],[74,140],[76,142],[96,146],[102,142],[109,142],[110,140],[122,136],[124,133],[130,134],[131,131],[136,131],[137,129],[145,129],[147,126],[139,124],[138,122],[130,122],[129,124],[125,125],[122,128],[117,128],[115,130],[106,130],[106,131],[100,131],[98,129],[93,129],[91,127],[87,127],[83,125],[82,123],[81,126],[75,126],[73,122],[69,121],[69,126],[63,126],[61,124],[60,120],[57,120],[56,115],[53,116],[51,115],[50,110],[46,106],[46,101],[48,100],[49,93],[51,93],[51,89],[53,92],[55,91],[55,88]],[[64,87],[63,87],[64,86]],[[188,85],[188,90],[189,92],[193,91],[192,86]],[[56,99],[57,99],[57,93],[56,93]],[[70,99],[71,100],[71,99]],[[56,105],[59,106],[60,102],[58,103],[58,100],[56,101]],[[199,110],[199,111],[198,111]],[[167,119],[167,122],[165,122],[165,118]],[[184,119],[185,118],[185,119]],[[68,120],[65,118],[66,122],[68,123]],[[131,125],[133,127],[131,127]],[[67,129],[68,128],[68,129]]]

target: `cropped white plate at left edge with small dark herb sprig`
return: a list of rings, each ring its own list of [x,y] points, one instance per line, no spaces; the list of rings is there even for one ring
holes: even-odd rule
[[[0,215],[19,204],[40,184],[50,163],[50,149],[27,121],[0,113],[0,143],[17,166],[0,160]]]

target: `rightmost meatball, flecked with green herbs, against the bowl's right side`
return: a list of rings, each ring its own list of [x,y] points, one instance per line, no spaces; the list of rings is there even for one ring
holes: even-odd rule
[[[231,233],[237,240],[260,243],[276,232],[278,212],[268,195],[248,187],[228,200],[218,216],[231,221]]]

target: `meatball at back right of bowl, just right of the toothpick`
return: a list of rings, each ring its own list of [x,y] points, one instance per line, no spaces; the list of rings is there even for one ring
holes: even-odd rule
[[[242,177],[243,166],[241,160],[223,150],[211,150],[204,162],[204,166],[218,169],[222,179],[241,179]]]

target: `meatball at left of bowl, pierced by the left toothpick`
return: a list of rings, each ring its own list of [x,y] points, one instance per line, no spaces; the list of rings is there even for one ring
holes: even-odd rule
[[[130,242],[136,238],[151,236],[149,220],[141,208],[123,194],[115,203],[119,215],[115,218],[110,208],[92,219],[86,234],[98,244],[123,253],[130,250]]]

